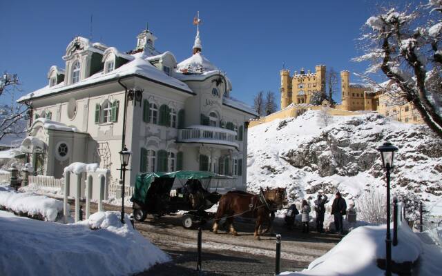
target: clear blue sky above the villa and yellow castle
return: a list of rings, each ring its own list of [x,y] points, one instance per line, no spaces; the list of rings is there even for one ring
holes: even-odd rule
[[[259,90],[278,95],[282,63],[291,72],[325,64],[362,72],[358,55],[361,26],[378,1],[0,1],[0,71],[17,73],[21,94],[46,86],[52,65],[64,68],[73,37],[128,51],[148,22],[155,48],[178,61],[191,55],[192,19],[200,11],[203,55],[227,72],[233,97],[253,102]],[[356,79],[352,76],[353,81]],[[336,95],[340,101],[340,96]],[[18,97],[18,95],[17,95]]]

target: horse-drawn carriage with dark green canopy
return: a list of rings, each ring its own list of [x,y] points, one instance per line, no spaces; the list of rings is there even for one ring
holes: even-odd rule
[[[208,211],[218,203],[218,180],[229,177],[213,172],[184,171],[146,172],[136,177],[133,217],[144,221],[147,215],[158,218],[163,215],[182,215],[182,226],[191,228],[213,218]],[[213,190],[214,191],[211,191]]]

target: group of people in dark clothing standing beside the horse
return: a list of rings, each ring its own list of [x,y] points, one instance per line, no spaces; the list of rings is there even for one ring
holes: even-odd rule
[[[316,213],[316,231],[318,233],[324,233],[324,217],[325,217],[325,204],[327,204],[328,197],[321,193],[318,194],[318,198],[314,201],[314,211]],[[291,204],[289,210],[287,210],[287,215],[285,216],[285,221],[287,226],[291,228],[294,225],[294,220],[296,215],[301,214],[302,221],[302,233],[309,233],[309,221],[310,221],[311,208],[307,200],[302,200],[301,208],[298,211],[295,204]],[[345,199],[336,193],[332,204],[332,215],[334,215],[334,225],[336,228],[336,233],[344,234],[343,228],[343,216],[347,213],[347,204]]]

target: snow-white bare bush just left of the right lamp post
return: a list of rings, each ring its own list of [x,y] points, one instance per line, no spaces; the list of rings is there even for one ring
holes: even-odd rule
[[[387,222],[387,199],[385,195],[375,190],[364,192],[356,199],[358,219],[372,224],[385,224]]]

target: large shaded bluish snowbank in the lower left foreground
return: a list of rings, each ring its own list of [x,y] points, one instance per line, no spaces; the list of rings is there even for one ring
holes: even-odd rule
[[[0,271],[5,276],[133,275],[170,260],[132,228],[127,216],[122,224],[117,212],[57,224],[0,211],[0,229]]]

